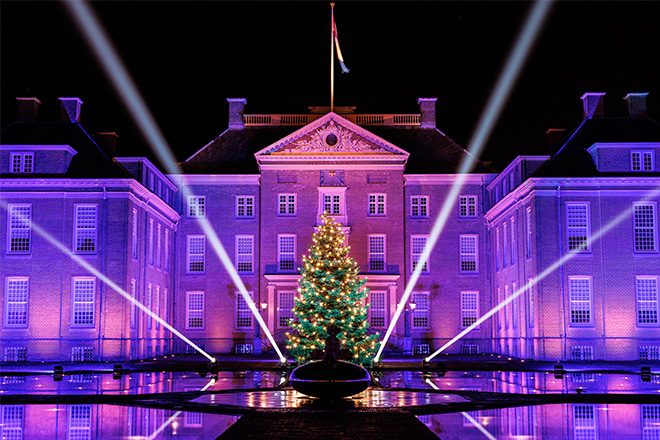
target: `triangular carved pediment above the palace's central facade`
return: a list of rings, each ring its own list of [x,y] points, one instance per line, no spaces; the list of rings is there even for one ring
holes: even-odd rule
[[[360,157],[360,162],[394,160],[405,163],[408,152],[359,125],[330,112],[255,154],[260,163]]]

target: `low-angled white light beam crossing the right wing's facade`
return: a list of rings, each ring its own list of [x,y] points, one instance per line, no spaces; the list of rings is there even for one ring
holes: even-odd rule
[[[649,192],[649,194],[642,200],[642,201],[648,201],[651,200],[652,198],[660,195],[660,189],[654,190]],[[481,318],[477,319],[472,325],[469,327],[465,328],[463,331],[461,331],[459,334],[454,336],[449,342],[447,342],[445,345],[440,347],[438,350],[436,350],[432,355],[428,356],[426,359],[424,359],[426,362],[430,362],[431,359],[436,357],[438,354],[442,353],[445,349],[450,347],[452,344],[454,344],[456,341],[461,339],[463,336],[474,330],[475,328],[479,327],[481,323],[489,319],[491,316],[499,312],[502,308],[506,307],[507,304],[511,303],[513,300],[518,298],[520,295],[522,295],[524,292],[526,292],[528,289],[531,289],[533,286],[538,284],[541,280],[543,280],[545,277],[556,271],[559,267],[561,267],[564,263],[567,261],[572,260],[575,258],[577,255],[580,255],[582,253],[582,249],[590,248],[592,243],[598,241],[601,237],[603,237],[605,234],[610,232],[613,228],[618,226],[621,222],[624,220],[630,218],[632,214],[633,208],[627,208],[623,210],[619,215],[617,215],[615,218],[613,218],[609,223],[607,223],[605,226],[603,226],[598,232],[595,234],[592,234],[590,237],[587,238],[587,241],[585,244],[577,249],[574,249],[570,252],[568,252],[566,255],[563,257],[559,258],[557,261],[555,261],[553,264],[548,266],[543,272],[538,274],[535,278],[532,278],[530,281],[527,282],[524,286],[516,290],[506,298],[504,301],[493,307],[491,310],[489,310],[486,314],[484,314]]]

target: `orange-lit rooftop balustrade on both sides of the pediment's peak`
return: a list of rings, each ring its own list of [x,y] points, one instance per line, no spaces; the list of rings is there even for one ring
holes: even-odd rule
[[[306,125],[320,118],[319,114],[299,115],[244,115],[243,120],[246,127],[274,127],[280,125]],[[358,125],[385,125],[385,126],[415,126],[419,125],[418,114],[346,114],[342,115],[351,122]]]

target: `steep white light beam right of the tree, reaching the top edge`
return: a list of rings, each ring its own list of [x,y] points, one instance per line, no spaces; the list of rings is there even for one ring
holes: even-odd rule
[[[378,352],[376,353],[376,357],[374,357],[374,362],[378,362],[378,359],[380,359],[380,356],[385,349],[385,344],[394,331],[394,327],[396,326],[396,323],[399,320],[399,317],[401,316],[401,313],[403,312],[403,309],[406,306],[410,295],[412,294],[412,290],[417,284],[417,280],[422,273],[422,268],[431,256],[431,251],[435,247],[435,244],[438,241],[438,237],[440,237],[440,233],[443,231],[447,220],[449,219],[449,215],[452,213],[456,206],[458,195],[463,188],[465,180],[467,179],[467,174],[474,166],[477,157],[479,157],[481,154],[483,147],[486,144],[486,140],[490,136],[490,133],[493,130],[493,126],[495,125],[495,122],[497,121],[500,113],[502,112],[502,109],[504,108],[504,104],[509,97],[513,84],[518,78],[525,60],[527,59],[527,56],[529,55],[529,52],[533,46],[533,43],[540,33],[541,28],[543,27],[543,22],[545,21],[551,5],[552,0],[538,0],[530,11],[525,22],[525,26],[518,35],[516,45],[513,47],[513,50],[509,54],[509,58],[506,61],[504,70],[500,73],[495,89],[490,95],[488,104],[486,105],[486,108],[481,115],[479,125],[477,126],[477,129],[472,136],[472,139],[470,140],[468,154],[461,161],[461,165],[458,170],[458,177],[454,182],[454,185],[452,186],[449,194],[447,195],[447,198],[445,199],[445,202],[443,203],[438,216],[435,219],[433,229],[431,230],[431,234],[429,234],[429,238],[426,242],[426,246],[424,247],[424,251],[419,258],[415,270],[408,280],[408,284],[406,285],[406,289],[403,292],[399,306],[397,307],[396,312],[392,317],[390,326],[387,328],[387,332],[380,344]]]

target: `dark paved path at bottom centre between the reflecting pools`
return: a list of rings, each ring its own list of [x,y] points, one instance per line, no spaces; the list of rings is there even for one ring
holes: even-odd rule
[[[355,411],[257,410],[217,440],[438,440],[413,414],[399,408]]]

